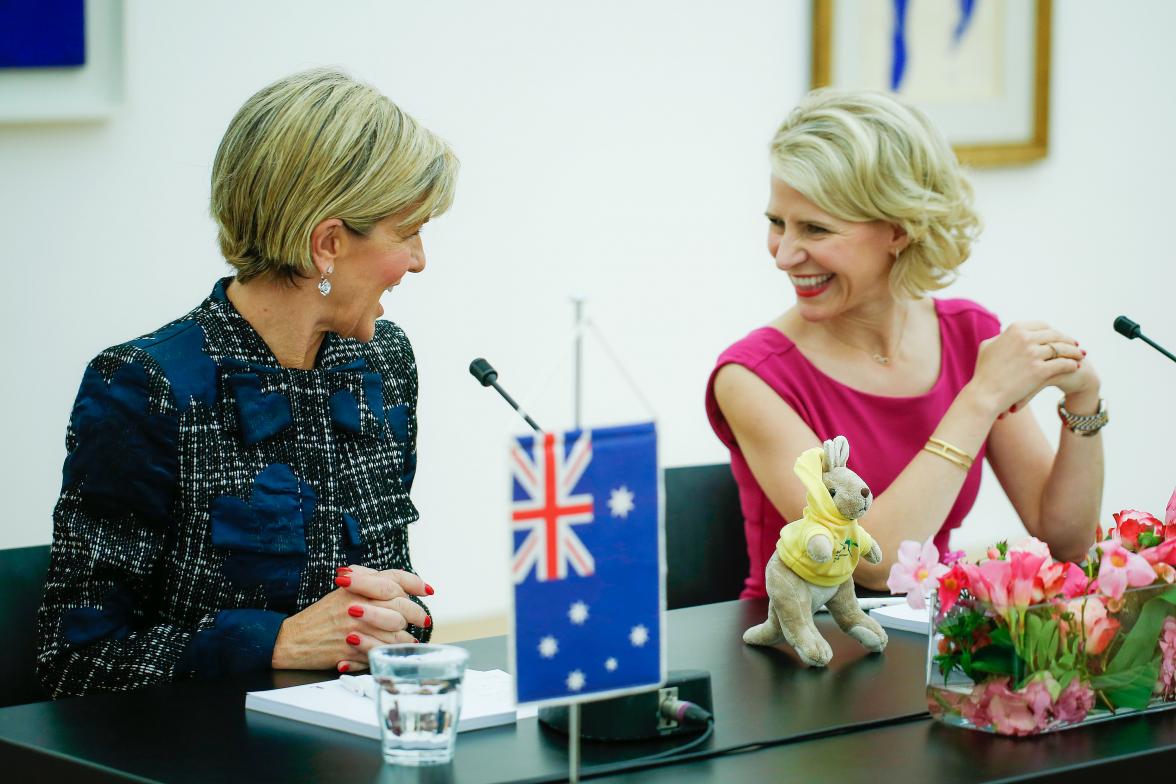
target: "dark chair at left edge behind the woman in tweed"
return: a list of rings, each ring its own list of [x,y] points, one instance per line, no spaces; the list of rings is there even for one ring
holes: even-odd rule
[[[0,550],[0,708],[48,699],[36,678],[36,609],[49,545]]]

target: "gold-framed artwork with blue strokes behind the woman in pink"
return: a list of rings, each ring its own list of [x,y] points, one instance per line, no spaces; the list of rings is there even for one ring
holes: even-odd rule
[[[813,0],[813,87],[897,93],[960,160],[1049,148],[1051,0]]]

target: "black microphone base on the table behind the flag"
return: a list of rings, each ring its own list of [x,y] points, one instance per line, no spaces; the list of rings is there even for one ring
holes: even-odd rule
[[[706,724],[663,718],[659,709],[666,699],[691,702],[710,712],[710,674],[706,670],[670,670],[661,689],[581,703],[580,737],[590,741],[646,741],[694,735],[706,729]],[[539,721],[567,732],[568,706],[540,708]]]

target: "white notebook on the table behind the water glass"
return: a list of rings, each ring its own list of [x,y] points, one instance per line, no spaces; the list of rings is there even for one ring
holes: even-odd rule
[[[352,689],[374,693],[377,688],[369,675],[342,677],[350,678]],[[335,679],[288,689],[250,691],[245,696],[245,706],[247,710],[379,738],[375,699],[352,689],[345,688],[341,679]],[[466,670],[461,717],[457,719],[459,732],[510,724],[515,718],[514,678],[502,670]]]

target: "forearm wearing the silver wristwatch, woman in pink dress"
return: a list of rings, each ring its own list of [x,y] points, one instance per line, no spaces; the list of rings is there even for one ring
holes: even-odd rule
[[[1065,408],[1078,415],[1098,410],[1098,393],[1068,395]],[[1040,530],[1057,558],[1081,561],[1094,542],[1102,505],[1102,435],[1082,436],[1062,425],[1049,478],[1041,498]]]

